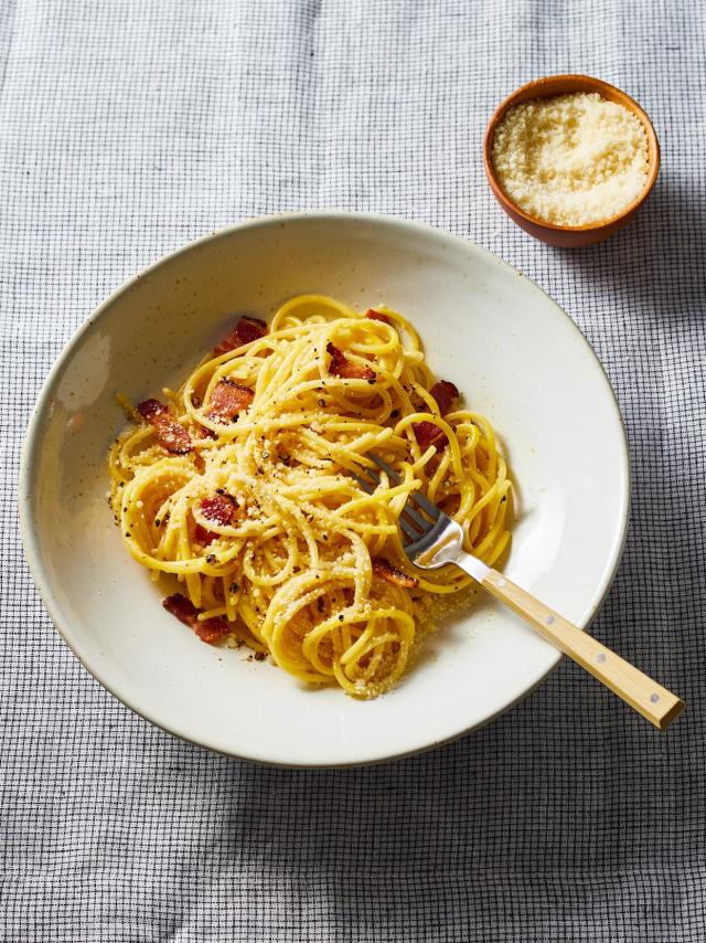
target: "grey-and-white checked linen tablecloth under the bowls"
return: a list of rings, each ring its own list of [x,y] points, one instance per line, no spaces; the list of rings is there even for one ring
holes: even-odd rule
[[[704,10],[0,0],[3,941],[706,940]],[[575,252],[517,230],[482,171],[494,106],[556,72],[632,94],[663,152],[634,223]],[[50,365],[162,254],[323,206],[486,246],[593,345],[633,476],[593,632],[688,701],[668,733],[564,664],[432,753],[256,767],[151,728],[60,639],[14,484]]]

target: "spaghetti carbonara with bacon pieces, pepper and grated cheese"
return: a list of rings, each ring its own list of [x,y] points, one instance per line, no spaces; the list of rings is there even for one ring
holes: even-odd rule
[[[153,579],[172,574],[164,605],[203,640],[373,697],[404,671],[429,600],[470,579],[409,564],[409,492],[489,564],[509,541],[505,463],[458,396],[387,308],[306,295],[269,327],[240,318],[178,391],[126,404],[133,424],[109,456],[125,544]],[[372,495],[354,477],[371,452],[400,479]]]

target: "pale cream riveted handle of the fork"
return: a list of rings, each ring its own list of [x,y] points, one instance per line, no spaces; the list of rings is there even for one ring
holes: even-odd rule
[[[462,565],[460,560],[459,565]],[[481,585],[660,730],[665,730],[684,710],[684,701],[676,695],[571,625],[502,573],[488,570]]]

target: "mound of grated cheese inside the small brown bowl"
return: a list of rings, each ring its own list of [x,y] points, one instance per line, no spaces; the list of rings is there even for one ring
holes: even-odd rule
[[[493,168],[521,210],[580,226],[630,205],[648,179],[642,121],[598,93],[537,98],[507,109],[495,129]]]

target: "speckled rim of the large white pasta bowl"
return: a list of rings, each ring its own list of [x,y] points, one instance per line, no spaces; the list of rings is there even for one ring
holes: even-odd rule
[[[617,539],[613,540],[613,544],[607,553],[607,560],[609,561],[609,566],[605,570],[602,580],[597,587],[597,591],[593,595],[593,598],[590,601],[588,605],[588,614],[587,616],[579,621],[577,624],[586,629],[595,616],[597,615],[600,606],[606,600],[613,581],[616,579],[616,574],[620,566],[620,561],[622,559],[625,540],[628,536],[628,525],[629,525],[629,516],[630,516],[630,502],[632,495],[632,474],[631,474],[631,462],[630,462],[630,449],[628,446],[628,436],[625,432],[624,422],[622,420],[622,414],[620,411],[620,405],[618,403],[618,399],[616,396],[616,392],[610,382],[610,378],[606,372],[603,364],[601,363],[598,354],[587,340],[587,338],[581,332],[578,325],[574,321],[574,319],[561,308],[561,306],[554,300],[536,282],[526,276],[518,268],[512,266],[509,262],[505,262],[500,256],[479,245],[478,243],[472,242],[469,239],[457,235],[454,233],[449,232],[448,230],[443,230],[438,226],[434,226],[427,223],[421,223],[416,220],[407,220],[399,216],[392,216],[384,213],[375,213],[375,212],[360,212],[360,211],[346,211],[346,210],[335,210],[335,209],[325,209],[325,210],[303,210],[303,211],[286,211],[279,213],[269,213],[261,214],[257,216],[247,218],[238,221],[229,226],[224,226],[218,230],[213,230],[206,233],[203,236],[200,236],[195,240],[188,242],[185,245],[180,246],[179,248],[167,253],[163,256],[160,256],[156,262],[147,265],[145,268],[140,269],[138,273],[129,277],[126,282],[118,286],[114,292],[111,292],[104,301],[101,301],[89,315],[88,317],[78,326],[78,328],[71,336],[68,341],[64,345],[62,350],[60,351],[56,360],[54,361],[50,372],[47,373],[40,393],[36,398],[34,406],[32,409],[32,413],[30,415],[30,420],[26,425],[24,441],[22,443],[21,455],[20,455],[20,470],[18,478],[18,511],[19,511],[19,522],[20,522],[20,534],[22,539],[22,544],[24,548],[25,559],[34,582],[34,585],[40,594],[40,598],[46,610],[47,615],[50,616],[54,627],[58,632],[64,644],[72,651],[74,657],[79,661],[79,664],[85,668],[85,670],[94,678],[98,684],[108,691],[116,700],[118,700],[124,707],[126,707],[129,711],[131,711],[137,717],[140,717],[142,720],[146,720],[148,723],[152,724],[157,729],[170,734],[171,737],[181,740],[184,743],[190,743],[193,746],[197,746],[202,750],[207,750],[212,753],[220,754],[222,756],[228,756],[231,759],[236,759],[243,762],[250,763],[253,765],[261,765],[261,766],[274,766],[276,769],[295,769],[295,770],[315,770],[315,769],[356,769],[362,766],[372,766],[372,765],[381,765],[383,763],[389,763],[397,760],[404,760],[408,756],[417,756],[426,753],[430,750],[436,750],[438,746],[442,746],[448,743],[452,743],[456,740],[460,740],[462,737],[467,737],[468,734],[475,732],[477,730],[482,730],[489,723],[494,721],[496,718],[501,717],[503,713],[509,711],[511,708],[515,707],[517,703],[523,701],[526,697],[528,697],[533,691],[535,691],[544,681],[554,674],[554,671],[558,668],[559,664],[564,659],[564,655],[558,649],[555,653],[555,657],[553,664],[548,667],[542,677],[539,677],[535,682],[530,685],[525,690],[518,693],[516,697],[509,700],[505,704],[503,704],[499,710],[496,710],[491,716],[486,717],[480,723],[471,724],[470,727],[464,728],[463,730],[456,731],[449,734],[446,738],[441,738],[440,740],[430,741],[424,745],[414,748],[411,750],[400,751],[398,753],[391,753],[387,756],[374,756],[371,759],[363,760],[351,760],[345,762],[321,762],[321,763],[295,763],[295,762],[281,762],[277,760],[268,760],[265,757],[255,757],[239,754],[233,750],[224,749],[223,746],[218,746],[214,742],[204,742],[199,740],[193,740],[182,731],[175,729],[174,727],[164,722],[163,719],[157,718],[151,710],[147,710],[141,708],[138,703],[131,701],[131,699],[126,699],[125,696],[120,695],[113,682],[105,677],[106,672],[99,665],[88,664],[90,659],[82,657],[78,654],[77,646],[73,644],[72,636],[73,631],[71,626],[71,621],[68,618],[64,618],[64,614],[62,612],[61,605],[57,600],[54,597],[54,593],[52,590],[52,583],[49,574],[46,573],[45,566],[42,561],[42,553],[40,549],[40,538],[39,533],[35,532],[33,527],[33,515],[32,515],[32,499],[30,497],[30,484],[32,479],[32,467],[34,465],[35,456],[40,452],[41,438],[42,438],[42,425],[41,421],[44,417],[46,407],[51,400],[51,394],[53,392],[56,380],[61,377],[62,371],[64,370],[66,363],[69,358],[74,353],[75,350],[79,349],[81,343],[84,340],[84,336],[87,335],[93,326],[98,321],[101,317],[105,316],[106,311],[113,306],[113,304],[125,293],[129,292],[133,285],[136,285],[139,280],[143,279],[148,275],[157,272],[159,268],[171,264],[175,258],[191,252],[200,245],[205,245],[210,242],[216,242],[220,239],[224,239],[232,233],[259,229],[259,227],[268,227],[272,225],[281,225],[284,222],[317,222],[319,220],[341,220],[341,221],[357,221],[361,223],[368,223],[375,225],[386,225],[392,226],[394,229],[398,229],[402,231],[407,231],[411,234],[417,233],[418,235],[434,236],[437,240],[446,241],[454,246],[463,245],[467,251],[471,253],[478,253],[481,256],[493,259],[494,263],[499,264],[502,268],[504,268],[509,274],[512,273],[515,276],[520,276],[524,279],[525,286],[536,293],[537,295],[543,296],[544,299],[548,300],[552,306],[568,321],[568,325],[580,337],[582,343],[586,346],[588,351],[590,351],[591,358],[590,362],[593,368],[598,369],[600,374],[603,378],[606,383],[606,392],[610,394],[610,399],[612,402],[614,418],[620,428],[621,436],[621,458],[622,465],[624,468],[623,476],[623,494],[622,494],[622,504],[620,509],[620,520],[619,520],[619,529],[617,533]],[[610,559],[612,557],[612,560]]]

